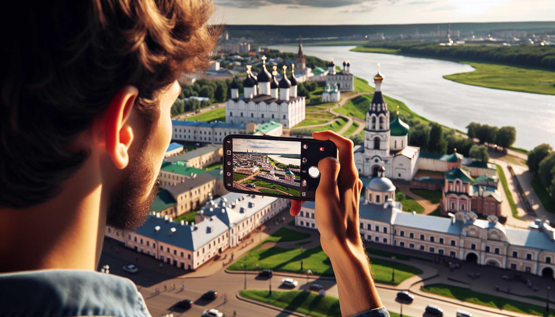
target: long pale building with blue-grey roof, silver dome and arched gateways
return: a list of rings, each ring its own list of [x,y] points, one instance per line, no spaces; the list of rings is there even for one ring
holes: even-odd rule
[[[487,220],[473,212],[421,215],[402,212],[394,200],[390,179],[378,176],[366,184],[359,209],[362,239],[555,278],[555,227],[549,220],[537,219],[528,230],[508,228],[496,215]],[[314,202],[305,202],[295,224],[316,229],[314,209]]]

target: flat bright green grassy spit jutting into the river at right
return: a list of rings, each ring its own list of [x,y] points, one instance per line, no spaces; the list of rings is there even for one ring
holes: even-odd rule
[[[472,72],[443,76],[453,82],[518,92],[555,95],[555,72],[493,63],[473,63]]]

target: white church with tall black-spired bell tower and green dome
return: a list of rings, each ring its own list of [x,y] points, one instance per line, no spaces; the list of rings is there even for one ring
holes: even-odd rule
[[[390,123],[381,92],[382,80],[384,76],[378,64],[378,73],[374,76],[376,91],[366,113],[364,145],[355,149],[356,168],[364,177],[377,177],[384,167],[387,178],[411,180],[418,169],[420,148],[408,146],[410,128],[398,115]]]

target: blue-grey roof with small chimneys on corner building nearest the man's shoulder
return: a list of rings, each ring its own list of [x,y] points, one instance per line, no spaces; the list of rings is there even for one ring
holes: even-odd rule
[[[154,229],[157,226],[160,226],[158,232]],[[172,234],[170,234],[171,228],[175,228],[175,232]],[[135,233],[158,240],[160,245],[174,245],[179,248],[195,251],[227,230],[228,226],[216,217],[204,219],[198,224],[191,226],[169,222],[164,220],[164,218],[156,218],[153,215],[149,215],[147,221],[139,229],[135,230]]]

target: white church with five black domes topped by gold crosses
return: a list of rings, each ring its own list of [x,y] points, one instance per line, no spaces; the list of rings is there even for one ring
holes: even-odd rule
[[[291,65],[291,77],[287,79],[286,66],[278,82],[276,67],[270,74],[266,69],[266,57],[262,57],[262,71],[254,76],[247,66],[247,77],[243,81],[243,95],[239,95],[239,84],[231,82],[231,99],[226,102],[225,120],[228,123],[280,122],[284,128],[292,128],[305,119],[305,97],[297,96],[295,65]],[[278,94],[279,89],[279,94]]]

